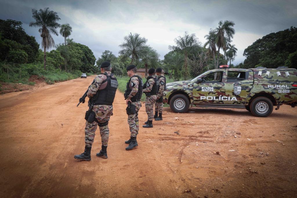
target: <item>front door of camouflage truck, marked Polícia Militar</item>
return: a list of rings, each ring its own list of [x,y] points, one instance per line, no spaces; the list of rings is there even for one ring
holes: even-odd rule
[[[194,82],[193,98],[194,104],[201,103],[222,103],[224,96],[224,83],[222,82],[225,70],[214,71],[201,77],[202,82]]]

